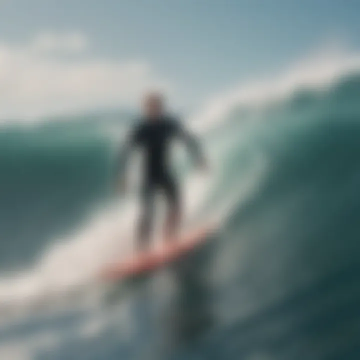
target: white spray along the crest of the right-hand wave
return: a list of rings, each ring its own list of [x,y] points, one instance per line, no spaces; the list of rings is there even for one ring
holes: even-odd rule
[[[267,104],[286,101],[298,91],[326,91],[359,69],[360,55],[357,53],[320,52],[275,76],[252,80],[210,98],[190,117],[190,123],[196,129],[206,129],[221,123],[234,108],[259,109]]]

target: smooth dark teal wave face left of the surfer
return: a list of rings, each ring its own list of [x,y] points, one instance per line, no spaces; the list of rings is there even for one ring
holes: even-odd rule
[[[88,124],[0,132],[0,268],[28,265],[106,195],[109,145]],[[92,133],[91,133],[92,132]]]

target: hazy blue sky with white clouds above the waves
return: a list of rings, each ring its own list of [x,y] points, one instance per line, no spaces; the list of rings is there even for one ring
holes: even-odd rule
[[[359,33],[358,0],[0,0],[0,116],[150,88],[188,109]]]

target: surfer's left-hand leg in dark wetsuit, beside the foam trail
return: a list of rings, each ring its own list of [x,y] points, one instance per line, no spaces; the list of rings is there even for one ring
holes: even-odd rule
[[[137,247],[139,251],[145,251],[149,247],[150,234],[153,220],[154,188],[146,184],[142,189],[142,209],[137,226]]]

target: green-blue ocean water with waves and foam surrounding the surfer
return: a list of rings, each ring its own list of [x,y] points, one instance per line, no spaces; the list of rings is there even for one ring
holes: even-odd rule
[[[185,224],[218,230],[136,281],[96,276],[133,245],[131,116],[2,125],[1,359],[360,358],[360,72],[256,86],[190,123],[209,174],[176,159]]]

